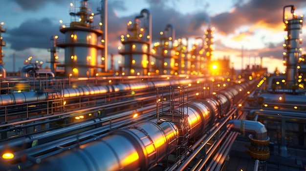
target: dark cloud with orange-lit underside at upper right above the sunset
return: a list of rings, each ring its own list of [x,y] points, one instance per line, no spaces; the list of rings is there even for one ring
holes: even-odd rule
[[[299,8],[306,6],[305,0],[290,0],[290,4]],[[241,2],[235,3],[232,12],[213,16],[211,22],[223,34],[234,33],[241,26],[256,23],[273,28],[276,24],[283,22],[283,7],[285,5],[288,5],[286,0],[250,0],[242,5]]]

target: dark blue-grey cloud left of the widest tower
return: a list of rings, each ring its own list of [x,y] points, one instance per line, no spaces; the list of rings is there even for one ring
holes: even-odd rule
[[[50,19],[31,19],[24,21],[19,27],[7,30],[6,41],[11,48],[20,51],[27,48],[50,47],[52,35],[59,35],[59,26]]]

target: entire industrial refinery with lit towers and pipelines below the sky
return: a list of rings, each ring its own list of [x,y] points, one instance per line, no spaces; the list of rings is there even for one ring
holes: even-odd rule
[[[268,73],[215,59],[211,24],[199,43],[171,23],[153,41],[148,9],[118,35],[116,63],[108,1],[96,11],[88,1],[71,5],[62,35],[47,40],[49,70],[29,57],[8,74],[0,24],[0,171],[306,171],[299,7],[279,9],[286,71]]]

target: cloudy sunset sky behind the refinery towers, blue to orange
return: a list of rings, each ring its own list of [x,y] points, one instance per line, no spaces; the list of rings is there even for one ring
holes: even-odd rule
[[[4,67],[13,71],[13,54],[16,68],[22,68],[23,61],[44,61],[49,66],[47,48],[51,46],[51,36],[64,38],[59,31],[59,20],[69,23],[70,2],[79,6],[79,0],[1,0],[0,22],[5,23],[6,32],[1,34],[6,46],[2,48]],[[96,12],[100,0],[89,0]],[[215,27],[215,57],[230,57],[235,69],[241,69],[241,49],[244,64],[251,61],[273,72],[275,67],[284,71],[283,43],[287,34],[283,23],[283,7],[294,4],[295,13],[306,15],[306,0],[108,0],[109,54],[118,54],[120,35],[127,34],[127,22],[134,19],[144,8],[152,14],[153,42],[160,38],[159,32],[171,23],[175,28],[175,38],[197,38],[203,30]],[[99,16],[94,17],[99,20]],[[302,34],[303,53],[306,51],[306,27]],[[58,56],[64,58],[64,49]],[[244,66],[244,65],[243,65]]]

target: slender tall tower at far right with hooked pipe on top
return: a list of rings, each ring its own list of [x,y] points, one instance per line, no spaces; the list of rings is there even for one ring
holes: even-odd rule
[[[288,16],[285,16],[285,9],[287,7],[291,8],[292,18],[288,19]],[[287,31],[287,37],[284,42],[284,49],[287,50],[284,53],[284,64],[286,68],[286,82],[288,89],[295,89],[298,77],[298,59],[301,53],[300,43],[302,40],[299,38],[300,30],[302,29],[303,19],[298,18],[294,13],[295,6],[287,5],[284,6],[284,30]]]

